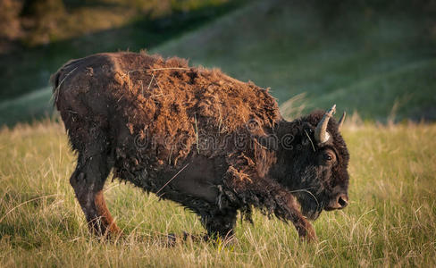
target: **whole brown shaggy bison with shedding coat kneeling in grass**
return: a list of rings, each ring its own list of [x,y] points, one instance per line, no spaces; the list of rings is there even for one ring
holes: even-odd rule
[[[268,89],[180,58],[107,53],[65,63],[54,101],[78,160],[71,186],[99,235],[120,234],[109,172],[199,216],[229,238],[254,207],[316,238],[308,220],[348,205],[348,149],[335,106],[286,121]]]

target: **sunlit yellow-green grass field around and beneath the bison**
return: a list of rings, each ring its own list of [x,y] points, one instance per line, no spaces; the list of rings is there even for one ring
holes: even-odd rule
[[[238,222],[238,243],[164,247],[168,232],[204,230],[194,214],[138,188],[108,180],[105,196],[127,235],[88,234],[69,177],[62,125],[0,130],[0,264],[12,266],[423,266],[436,264],[436,125],[349,124],[350,205],[314,222],[318,241],[298,241],[292,225],[256,212]]]

